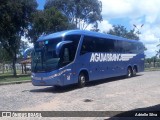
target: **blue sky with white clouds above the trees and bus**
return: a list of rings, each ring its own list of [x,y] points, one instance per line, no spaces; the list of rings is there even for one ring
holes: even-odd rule
[[[139,30],[140,41],[147,48],[146,57],[156,55],[160,44],[160,0],[100,0],[103,21],[99,23],[101,32],[112,25],[123,25],[128,30]],[[38,9],[43,9],[45,0],[37,0]],[[143,26],[142,26],[143,25]],[[142,27],[141,27],[142,26]]]

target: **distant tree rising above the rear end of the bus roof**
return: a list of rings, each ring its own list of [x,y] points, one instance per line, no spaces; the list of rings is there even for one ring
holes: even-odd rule
[[[137,34],[135,34],[135,29],[127,31],[127,29],[121,25],[113,25],[113,29],[110,29],[107,33],[127,39],[139,40],[139,37],[137,36]]]

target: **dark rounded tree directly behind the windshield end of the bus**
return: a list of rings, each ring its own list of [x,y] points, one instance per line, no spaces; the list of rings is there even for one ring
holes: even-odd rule
[[[35,43],[38,37],[43,34],[49,34],[57,31],[75,28],[67,18],[57,11],[54,7],[38,10],[32,14],[32,23],[28,31],[28,37]]]

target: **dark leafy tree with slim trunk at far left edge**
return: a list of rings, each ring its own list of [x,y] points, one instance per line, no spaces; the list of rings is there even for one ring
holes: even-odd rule
[[[1,0],[0,2],[0,42],[12,58],[14,76],[16,76],[15,64],[21,36],[28,28],[30,15],[36,7],[36,0]]]

